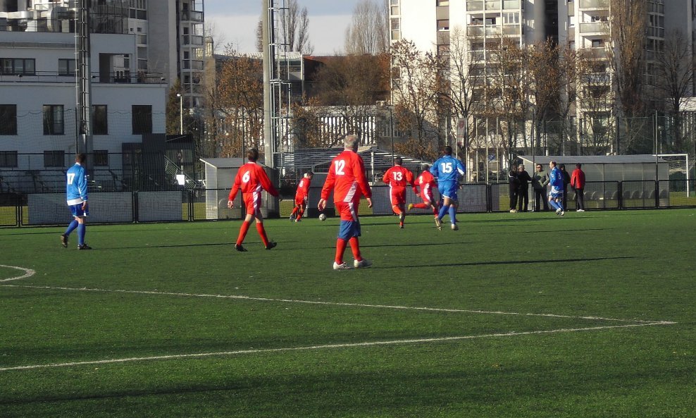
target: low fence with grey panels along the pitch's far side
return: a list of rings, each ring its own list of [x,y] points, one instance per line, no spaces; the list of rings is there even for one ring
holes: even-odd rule
[[[373,207],[361,204],[361,216],[390,215],[392,208],[389,188],[375,185]],[[94,191],[89,195],[89,223],[142,223],[176,221],[218,221],[242,219],[242,197],[237,195],[235,208],[228,209],[228,189],[169,190],[169,191]],[[696,180],[654,180],[588,182],[585,185],[585,209],[655,209],[696,207]],[[411,190],[406,191],[407,202],[421,202]],[[307,216],[318,215],[316,202],[321,188],[311,188]],[[529,210],[534,207],[533,190],[528,190]],[[458,213],[509,211],[507,183],[464,184],[458,191]],[[437,198],[437,192],[435,192]],[[290,216],[292,196],[282,201],[263,193],[261,212],[266,218]],[[568,191],[568,211],[576,210],[575,192]],[[326,214],[335,215],[330,199]],[[429,210],[414,209],[412,214],[431,214]],[[0,226],[65,225],[72,216],[62,192],[0,193]]]

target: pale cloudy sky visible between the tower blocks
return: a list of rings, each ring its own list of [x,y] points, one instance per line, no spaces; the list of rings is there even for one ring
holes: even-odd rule
[[[309,13],[309,41],[314,46],[314,55],[342,51],[345,30],[359,1],[298,0],[299,6],[306,7]],[[261,0],[205,0],[206,25],[213,25],[218,47],[232,44],[240,52],[256,51],[256,25],[260,16]]]

